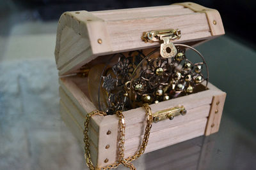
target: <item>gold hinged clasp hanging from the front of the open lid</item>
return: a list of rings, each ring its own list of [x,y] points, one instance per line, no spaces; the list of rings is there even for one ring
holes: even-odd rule
[[[177,54],[177,49],[171,40],[179,39],[180,36],[181,33],[179,29],[163,29],[143,32],[141,39],[145,41],[145,43],[163,40],[160,46],[160,55],[164,58],[171,58]]]

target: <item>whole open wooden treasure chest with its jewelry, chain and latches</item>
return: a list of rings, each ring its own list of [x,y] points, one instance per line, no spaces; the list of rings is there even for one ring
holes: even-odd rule
[[[217,132],[226,94],[194,47],[223,34],[218,11],[195,3],[63,13],[60,113],[88,166],[130,167],[142,153]]]

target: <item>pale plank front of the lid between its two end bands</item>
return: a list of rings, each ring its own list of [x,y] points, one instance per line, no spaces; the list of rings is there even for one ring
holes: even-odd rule
[[[134,25],[136,25],[136,27]],[[145,43],[144,41],[141,41],[142,32],[157,29],[179,28],[182,32],[182,36],[180,39],[173,41],[174,43],[184,43],[211,37],[207,18],[204,13],[193,13],[182,16],[176,15],[172,17],[162,16],[161,18],[138,18],[134,20],[109,21],[106,23],[106,27],[108,29],[109,37],[111,37],[111,46],[115,52],[158,46],[159,42]]]

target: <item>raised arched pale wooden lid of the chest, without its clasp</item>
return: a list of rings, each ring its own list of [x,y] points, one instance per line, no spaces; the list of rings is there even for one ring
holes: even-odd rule
[[[212,20],[216,20],[217,24],[212,25]],[[157,42],[143,42],[142,33],[169,28],[179,28],[182,32],[181,38],[174,43],[190,42],[191,45],[224,34],[218,11],[209,10],[205,14],[181,5],[66,12],[61,15],[56,38],[59,74],[74,73],[98,56],[159,46]],[[75,39],[77,42],[72,43]],[[98,43],[98,39],[102,43]]]

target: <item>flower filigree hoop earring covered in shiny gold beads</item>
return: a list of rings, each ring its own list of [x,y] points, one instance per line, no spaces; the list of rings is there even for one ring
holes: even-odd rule
[[[184,46],[187,47],[186,45]],[[131,103],[135,102],[140,106],[139,102],[159,103],[178,96],[191,94],[196,85],[207,80],[202,74],[205,62],[193,64],[187,59],[185,48],[181,47],[183,46],[177,46],[177,54],[171,59],[165,59],[161,56],[148,56],[145,59],[147,67],[141,70],[139,76],[136,76],[138,78],[131,81]],[[145,81],[143,86],[142,83],[138,83],[141,80]],[[141,90],[138,90],[139,87]]]

